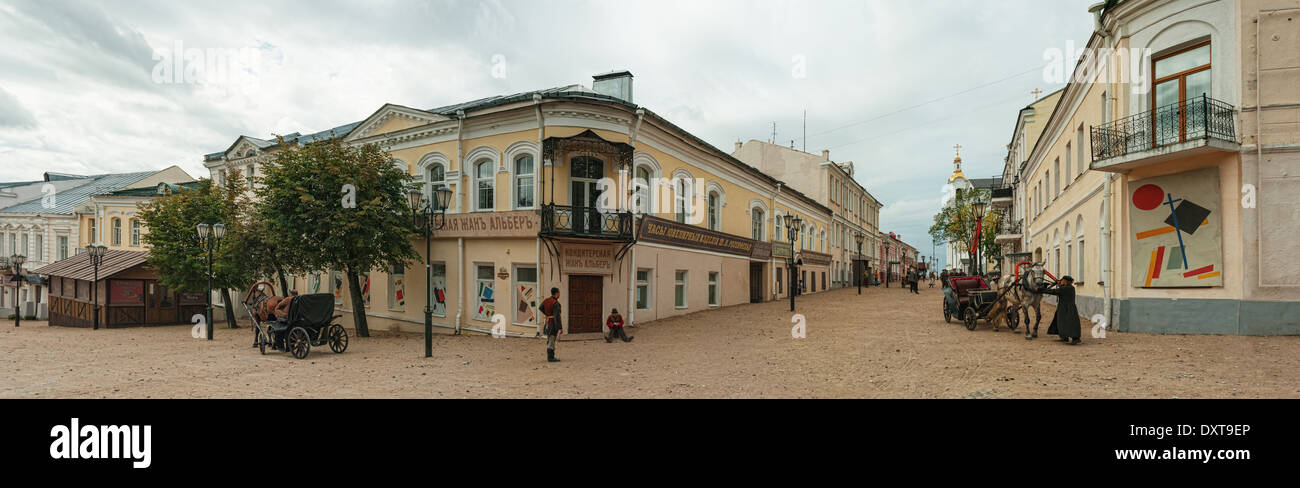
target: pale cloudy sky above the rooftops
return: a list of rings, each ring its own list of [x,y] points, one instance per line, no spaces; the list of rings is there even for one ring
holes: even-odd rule
[[[1061,87],[1045,51],[1087,42],[1091,3],[0,0],[0,181],[205,176],[239,134],[628,69],[636,103],[719,148],[776,122],[777,142],[854,161],[883,229],[928,254],[953,146],[967,176],[1001,172],[1031,90]],[[234,68],[186,82],[161,68],[177,47]]]

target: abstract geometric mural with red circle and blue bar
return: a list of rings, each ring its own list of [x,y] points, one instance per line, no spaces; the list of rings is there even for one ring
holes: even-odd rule
[[[1134,286],[1223,286],[1218,169],[1134,181],[1130,187]]]

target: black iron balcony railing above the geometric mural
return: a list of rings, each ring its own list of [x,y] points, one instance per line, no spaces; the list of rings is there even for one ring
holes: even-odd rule
[[[1196,139],[1236,142],[1236,109],[1206,95],[1092,128],[1092,160],[1101,161]]]

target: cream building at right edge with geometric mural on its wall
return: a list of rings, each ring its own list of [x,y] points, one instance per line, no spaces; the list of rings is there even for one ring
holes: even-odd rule
[[[1080,60],[1022,168],[1023,249],[1119,331],[1300,334],[1300,5],[1092,13],[1088,48],[1115,51]]]

